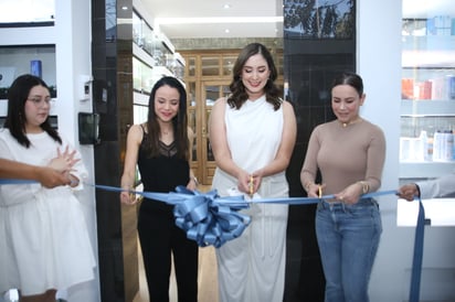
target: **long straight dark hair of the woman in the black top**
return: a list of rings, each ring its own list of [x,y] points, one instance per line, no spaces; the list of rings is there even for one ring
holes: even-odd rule
[[[155,112],[155,96],[157,90],[162,86],[176,88],[179,91],[179,111],[172,118],[173,137],[177,144],[177,155],[181,159],[189,159],[189,141],[188,141],[188,118],[187,118],[187,91],[183,85],[174,77],[161,77],[151,89],[148,101],[148,119],[147,119],[147,140],[145,142],[146,151],[150,157],[159,155],[159,136],[160,126],[158,123],[157,112]]]

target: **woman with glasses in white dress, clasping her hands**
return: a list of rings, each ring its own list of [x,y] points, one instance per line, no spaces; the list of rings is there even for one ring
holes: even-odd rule
[[[70,185],[0,186],[0,292],[19,289],[21,301],[55,301],[57,289],[94,278],[93,248],[73,193],[83,187],[86,170],[78,152],[51,127],[50,103],[41,78],[19,76],[8,91],[8,116],[0,130],[2,159],[57,170],[66,165],[62,159],[76,159],[66,172]]]

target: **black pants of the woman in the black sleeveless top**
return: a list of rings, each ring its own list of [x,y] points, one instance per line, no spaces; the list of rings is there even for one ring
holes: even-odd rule
[[[178,301],[197,302],[198,245],[187,239],[187,234],[176,226],[172,207],[163,211],[151,208],[144,203],[139,211],[138,233],[150,301],[169,301],[172,252]]]

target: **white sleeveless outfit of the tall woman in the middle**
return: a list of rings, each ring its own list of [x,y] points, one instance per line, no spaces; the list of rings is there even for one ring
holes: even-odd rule
[[[267,165],[276,155],[283,134],[283,106],[274,111],[265,96],[247,100],[240,110],[226,105],[228,144],[234,162],[247,172]],[[216,168],[212,188],[220,196],[237,180]],[[261,197],[287,197],[285,171],[264,177]],[[216,249],[220,302],[283,301],[286,262],[287,205],[253,204],[252,217],[240,238]]]

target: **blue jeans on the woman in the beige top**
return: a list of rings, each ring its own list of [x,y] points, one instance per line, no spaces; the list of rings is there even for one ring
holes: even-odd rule
[[[316,235],[326,277],[325,302],[368,302],[368,283],[382,233],[378,203],[321,201]]]

